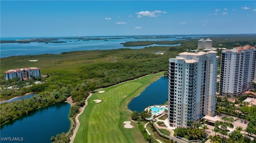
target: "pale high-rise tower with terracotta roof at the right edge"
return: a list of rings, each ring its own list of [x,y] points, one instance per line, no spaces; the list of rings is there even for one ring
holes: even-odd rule
[[[255,80],[256,49],[248,45],[224,50],[220,65],[220,96],[240,95],[252,88]]]

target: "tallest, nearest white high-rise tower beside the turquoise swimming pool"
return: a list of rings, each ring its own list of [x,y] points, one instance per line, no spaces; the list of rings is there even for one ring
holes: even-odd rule
[[[169,59],[168,120],[189,127],[205,115],[215,116],[218,52],[180,53]]]

